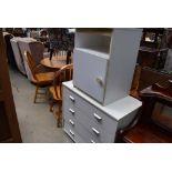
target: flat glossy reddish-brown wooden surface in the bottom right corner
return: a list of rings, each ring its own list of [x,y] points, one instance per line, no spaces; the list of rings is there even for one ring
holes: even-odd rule
[[[171,143],[172,135],[154,124],[138,123],[123,136],[128,143]]]

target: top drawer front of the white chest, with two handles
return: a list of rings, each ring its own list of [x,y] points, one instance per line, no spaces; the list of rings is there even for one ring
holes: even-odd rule
[[[70,108],[78,108],[82,114],[87,115],[91,120],[91,122],[111,134],[114,134],[117,131],[118,122],[114,119],[111,119],[101,110],[97,109],[67,88],[63,88],[63,107],[68,108],[67,111],[69,111]]]

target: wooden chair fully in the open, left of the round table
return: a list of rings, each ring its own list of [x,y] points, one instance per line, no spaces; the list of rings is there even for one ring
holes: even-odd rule
[[[39,92],[39,90],[42,90],[52,84],[54,72],[41,72],[41,64],[37,65],[33,58],[28,51],[24,51],[24,58],[33,77],[31,82],[37,85],[33,101],[36,103],[38,95],[47,93],[47,91],[43,93]]]

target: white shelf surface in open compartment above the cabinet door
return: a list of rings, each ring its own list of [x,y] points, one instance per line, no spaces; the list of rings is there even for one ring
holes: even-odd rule
[[[93,48],[75,48],[75,50],[90,53],[103,59],[109,59],[109,49],[105,47],[93,47]]]

